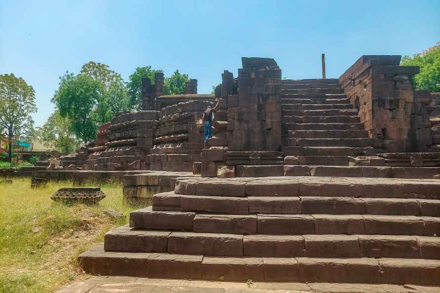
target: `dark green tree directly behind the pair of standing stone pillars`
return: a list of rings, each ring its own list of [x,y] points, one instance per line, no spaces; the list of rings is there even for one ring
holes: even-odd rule
[[[142,107],[142,78],[148,77],[151,84],[154,84],[154,74],[162,72],[161,69],[151,69],[151,66],[137,67],[135,72],[128,77],[127,89],[132,109],[140,110]]]

